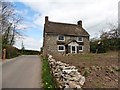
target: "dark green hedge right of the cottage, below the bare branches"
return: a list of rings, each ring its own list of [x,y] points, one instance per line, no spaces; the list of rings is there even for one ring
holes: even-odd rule
[[[120,50],[120,38],[104,39],[100,41],[102,42],[102,44],[99,46],[98,46],[99,40],[90,42],[90,51],[92,53],[95,53],[96,49],[98,49],[98,53],[105,53],[107,51]]]

